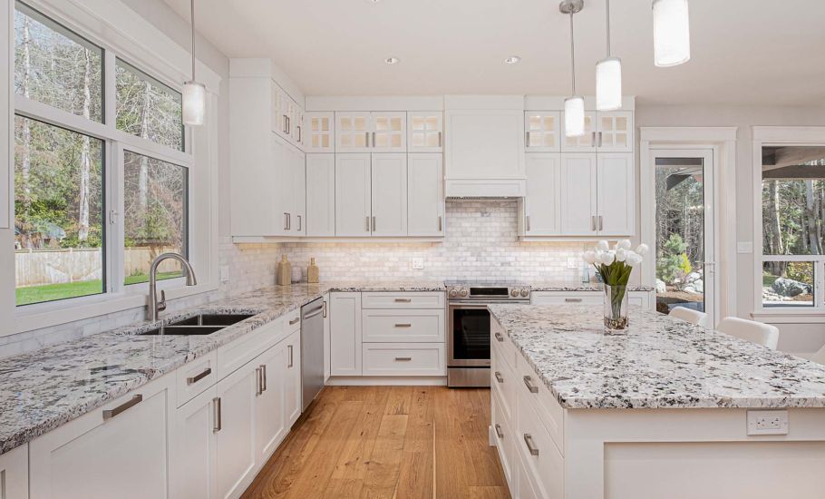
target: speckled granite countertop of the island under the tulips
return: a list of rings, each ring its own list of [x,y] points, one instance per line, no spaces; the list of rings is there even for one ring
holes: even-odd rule
[[[593,307],[489,308],[569,409],[825,407],[825,366],[651,310],[607,334]]]

